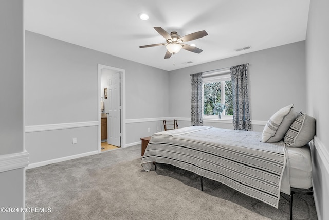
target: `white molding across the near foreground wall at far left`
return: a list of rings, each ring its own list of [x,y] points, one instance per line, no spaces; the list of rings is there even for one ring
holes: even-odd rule
[[[24,168],[29,164],[29,153],[27,151],[0,155],[0,172]]]

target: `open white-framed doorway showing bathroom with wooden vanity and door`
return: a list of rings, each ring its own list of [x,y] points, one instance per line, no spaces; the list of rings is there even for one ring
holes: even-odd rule
[[[124,146],[125,70],[98,65],[99,152]]]

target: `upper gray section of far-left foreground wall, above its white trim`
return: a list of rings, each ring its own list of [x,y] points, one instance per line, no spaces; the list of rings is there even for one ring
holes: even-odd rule
[[[0,155],[23,151],[22,1],[0,5]]]

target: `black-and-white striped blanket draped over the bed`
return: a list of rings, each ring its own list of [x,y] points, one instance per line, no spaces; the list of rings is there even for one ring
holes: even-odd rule
[[[158,132],[141,161],[166,163],[221,182],[278,208],[285,145],[261,142],[262,133],[193,126]]]

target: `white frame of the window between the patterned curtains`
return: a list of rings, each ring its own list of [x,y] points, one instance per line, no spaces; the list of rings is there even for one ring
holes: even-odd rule
[[[203,74],[202,76],[202,112],[204,112],[204,83],[211,82],[223,82],[231,80],[230,68],[222,69],[221,71],[209,72]],[[225,83],[221,83],[221,91],[225,91]],[[221,93],[221,102],[225,101],[225,93]],[[225,110],[222,112],[221,119],[218,118],[218,115],[204,115],[203,119],[212,119],[212,120],[233,120],[232,115],[225,115]]]

